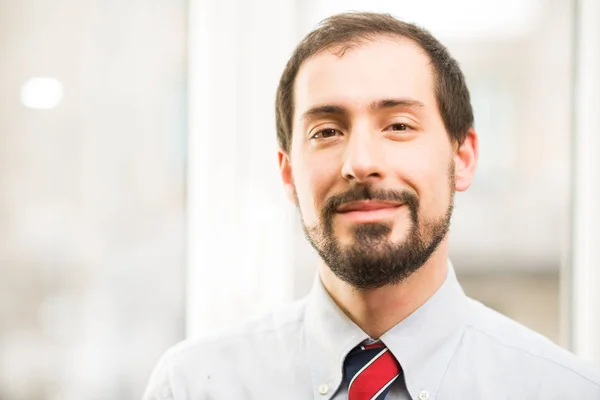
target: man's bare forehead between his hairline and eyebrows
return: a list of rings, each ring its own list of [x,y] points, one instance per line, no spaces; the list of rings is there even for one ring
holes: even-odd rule
[[[366,41],[340,55],[324,50],[308,59],[294,84],[294,118],[318,105],[359,111],[373,101],[411,98],[436,110],[433,68],[417,44],[402,38]]]

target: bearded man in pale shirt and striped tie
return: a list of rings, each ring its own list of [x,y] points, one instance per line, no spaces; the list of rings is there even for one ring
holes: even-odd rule
[[[277,92],[279,165],[322,262],[303,300],[156,367],[146,400],[600,399],[600,377],[469,299],[448,261],[478,157],[464,77],[426,31],[329,18]]]

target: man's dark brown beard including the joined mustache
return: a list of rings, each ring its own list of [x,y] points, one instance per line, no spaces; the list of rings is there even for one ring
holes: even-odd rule
[[[357,185],[327,199],[315,226],[302,223],[304,234],[321,259],[342,281],[361,289],[377,289],[400,283],[431,257],[450,229],[454,207],[454,166],[451,166],[450,199],[446,212],[437,218],[424,218],[418,196],[409,190],[382,190]],[[351,244],[340,243],[334,232],[337,209],[344,203],[360,200],[403,203],[410,211],[405,239],[389,239],[392,222],[356,224]]]

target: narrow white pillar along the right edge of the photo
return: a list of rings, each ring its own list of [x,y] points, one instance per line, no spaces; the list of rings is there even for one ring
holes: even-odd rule
[[[600,2],[576,4],[571,342],[600,364]]]

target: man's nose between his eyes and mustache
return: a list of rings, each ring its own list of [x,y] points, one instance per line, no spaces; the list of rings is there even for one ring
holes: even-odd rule
[[[368,183],[383,179],[383,159],[377,145],[377,138],[368,132],[350,136],[344,154],[342,176],[354,183]]]

